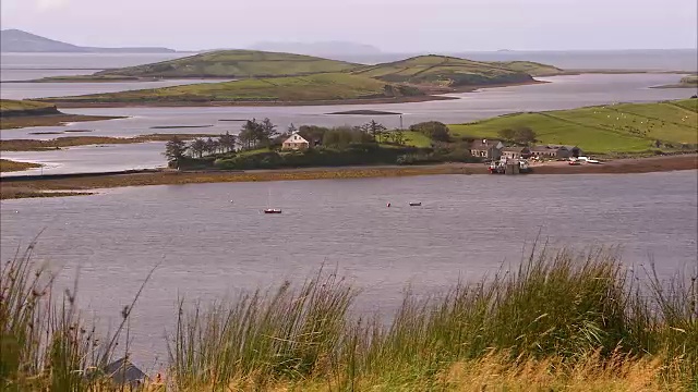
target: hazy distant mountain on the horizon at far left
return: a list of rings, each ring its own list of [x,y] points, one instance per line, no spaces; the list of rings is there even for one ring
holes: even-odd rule
[[[22,53],[172,53],[168,48],[93,48],[61,42],[20,29],[0,30],[0,51]]]

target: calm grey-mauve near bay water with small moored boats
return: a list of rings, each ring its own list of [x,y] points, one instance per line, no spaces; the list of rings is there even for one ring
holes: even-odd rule
[[[132,323],[136,357],[152,360],[178,295],[298,282],[323,264],[363,290],[359,311],[387,314],[408,284],[433,293],[516,264],[539,232],[552,246],[623,245],[626,262],[653,257],[667,277],[696,262],[697,187],[683,171],[119,188],[0,203],[0,256],[45,230],[36,258],[64,267],[63,281],[80,267],[82,305],[105,323],[159,262]],[[284,213],[260,213],[269,205]]]

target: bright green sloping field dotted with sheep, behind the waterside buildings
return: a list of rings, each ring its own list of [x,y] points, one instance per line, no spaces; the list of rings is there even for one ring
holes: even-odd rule
[[[698,144],[698,103],[693,99],[521,113],[449,127],[460,136],[495,138],[498,131],[516,126],[531,127],[541,143],[577,145],[597,154],[639,152],[653,148],[657,139]]]

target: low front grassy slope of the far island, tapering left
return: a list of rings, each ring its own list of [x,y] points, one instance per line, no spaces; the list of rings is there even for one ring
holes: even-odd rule
[[[197,84],[59,98],[60,101],[172,102],[172,101],[320,101],[383,98],[386,83],[369,77],[329,73],[298,77],[275,77]]]

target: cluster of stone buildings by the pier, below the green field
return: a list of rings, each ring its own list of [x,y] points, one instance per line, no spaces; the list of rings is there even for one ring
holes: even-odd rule
[[[470,154],[486,160],[508,159],[568,159],[583,154],[577,146],[542,145],[533,147],[507,147],[501,140],[474,140]]]

